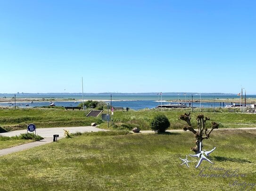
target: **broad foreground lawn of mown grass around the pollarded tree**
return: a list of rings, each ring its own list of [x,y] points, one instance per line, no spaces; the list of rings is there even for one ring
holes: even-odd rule
[[[181,166],[179,157],[193,154],[190,147],[195,139],[188,132],[104,135],[100,132],[61,139],[0,157],[0,190],[256,189],[256,131],[214,131],[204,140],[204,149],[217,147],[209,157],[215,164],[203,161],[199,168],[195,168],[197,159],[190,156],[190,168]]]

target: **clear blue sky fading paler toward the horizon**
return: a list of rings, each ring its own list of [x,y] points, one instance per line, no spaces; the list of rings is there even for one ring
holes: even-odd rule
[[[0,0],[0,93],[256,94],[255,0]]]

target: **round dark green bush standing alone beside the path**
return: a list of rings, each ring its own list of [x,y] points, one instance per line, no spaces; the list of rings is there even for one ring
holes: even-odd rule
[[[170,127],[170,122],[164,114],[158,114],[151,121],[151,129],[157,133],[164,133]]]

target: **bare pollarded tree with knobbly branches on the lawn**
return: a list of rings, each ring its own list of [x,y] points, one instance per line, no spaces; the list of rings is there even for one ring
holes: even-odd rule
[[[190,130],[192,133],[194,133],[196,140],[196,146],[191,147],[191,150],[194,151],[196,154],[201,152],[201,147],[202,147],[202,141],[205,138],[209,138],[210,137],[210,133],[214,130],[214,129],[218,129],[219,128],[219,124],[216,122],[211,122],[212,128],[208,131],[208,129],[206,128],[206,122],[210,120],[209,117],[204,117],[204,115],[200,114],[197,116],[197,125],[198,125],[198,131],[196,131],[190,122],[190,113],[189,114],[184,114],[184,115],[180,115],[179,117],[180,120],[183,120],[185,122],[188,123],[188,125],[185,125],[183,130]],[[208,131],[208,132],[207,132]]]

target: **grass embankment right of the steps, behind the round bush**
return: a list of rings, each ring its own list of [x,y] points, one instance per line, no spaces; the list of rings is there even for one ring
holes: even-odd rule
[[[129,129],[132,130],[134,127],[138,127],[141,130],[150,130],[150,121],[153,119],[158,110],[140,110],[140,111],[129,111],[129,112],[114,112],[114,125],[112,122],[109,123],[110,129]],[[189,112],[186,110],[174,111],[165,110],[162,111],[165,114],[171,125],[169,129],[182,129],[185,122],[179,120],[179,116]],[[204,114],[210,117],[210,121],[220,123],[220,128],[242,128],[242,127],[256,127],[256,115],[246,113],[212,113],[212,112],[191,112],[191,122],[194,127],[197,127],[196,117],[199,114]],[[107,124],[103,123],[100,125],[101,128],[107,128]],[[210,122],[207,123],[207,127],[210,127]]]

